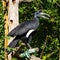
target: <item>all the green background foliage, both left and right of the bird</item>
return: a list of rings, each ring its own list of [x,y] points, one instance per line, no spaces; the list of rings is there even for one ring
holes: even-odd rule
[[[19,22],[33,19],[33,13],[42,9],[48,13],[51,18],[49,20],[41,19],[40,26],[37,29],[37,33],[33,36],[31,46],[38,47],[40,49],[37,56],[40,57],[44,48],[44,42],[47,38],[47,44],[43,51],[42,60],[58,60],[59,55],[59,39],[58,39],[58,23],[60,20],[60,0],[33,0],[31,3],[19,4]],[[4,56],[4,20],[3,20],[3,8],[0,1],[0,60],[3,60]]]

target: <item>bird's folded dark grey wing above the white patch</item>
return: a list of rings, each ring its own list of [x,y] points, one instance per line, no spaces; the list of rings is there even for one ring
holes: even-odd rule
[[[8,35],[10,36],[17,36],[22,35],[26,33],[28,30],[33,29],[32,21],[26,21],[20,25],[18,25],[16,28],[14,28]]]

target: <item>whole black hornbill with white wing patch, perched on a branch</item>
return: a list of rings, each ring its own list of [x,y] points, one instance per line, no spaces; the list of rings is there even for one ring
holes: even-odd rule
[[[42,11],[37,11],[34,13],[34,19],[30,21],[25,21],[21,24],[19,24],[17,27],[15,27],[11,32],[9,32],[8,36],[12,36],[15,38],[13,41],[8,45],[8,47],[16,47],[16,44],[20,40],[24,40],[26,45],[30,42],[31,40],[31,34],[36,31],[36,29],[39,26],[39,19],[38,17],[42,17],[45,19],[49,19],[49,15],[46,13],[43,13]]]

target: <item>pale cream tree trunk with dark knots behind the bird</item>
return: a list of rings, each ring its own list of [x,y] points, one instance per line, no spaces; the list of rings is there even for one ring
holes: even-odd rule
[[[9,20],[9,32],[14,29],[19,24],[19,14],[18,14],[18,5],[19,2],[31,2],[31,0],[9,0],[9,9],[8,9],[8,20]],[[8,42],[9,43],[13,40],[11,38]],[[11,60],[11,54],[8,55],[8,60]]]

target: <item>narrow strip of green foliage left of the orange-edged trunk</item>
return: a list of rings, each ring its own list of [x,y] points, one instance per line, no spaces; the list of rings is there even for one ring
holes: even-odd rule
[[[0,1],[0,60],[4,58],[4,20],[3,20],[3,7]]]

